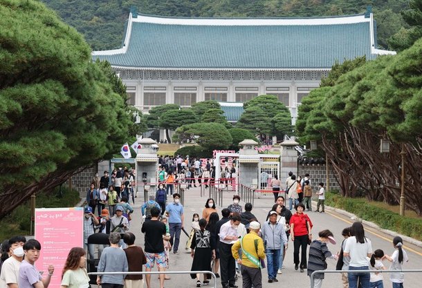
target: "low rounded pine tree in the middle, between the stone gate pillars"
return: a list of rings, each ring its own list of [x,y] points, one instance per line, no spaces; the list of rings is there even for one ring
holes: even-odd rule
[[[194,141],[204,150],[226,149],[232,144],[232,136],[227,128],[219,123],[195,123],[176,129],[174,141]]]

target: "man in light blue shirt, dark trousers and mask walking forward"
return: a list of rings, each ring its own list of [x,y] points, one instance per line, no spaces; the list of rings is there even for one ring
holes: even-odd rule
[[[181,231],[183,229],[183,220],[185,215],[183,215],[183,205],[180,203],[181,195],[179,193],[173,194],[173,202],[167,204],[165,211],[169,217],[169,227],[170,227],[170,244],[173,247],[173,253],[178,254],[178,243],[181,237]]]

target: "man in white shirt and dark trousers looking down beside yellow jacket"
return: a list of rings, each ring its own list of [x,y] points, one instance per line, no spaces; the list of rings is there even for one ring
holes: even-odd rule
[[[232,256],[232,246],[239,239],[237,227],[240,224],[240,216],[233,215],[230,221],[221,225],[219,233],[219,254],[221,285],[223,288],[237,288],[235,285],[236,265]]]

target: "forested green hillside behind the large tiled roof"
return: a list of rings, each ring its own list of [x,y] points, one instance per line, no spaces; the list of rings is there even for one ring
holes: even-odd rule
[[[182,17],[311,17],[351,15],[368,5],[377,21],[378,46],[395,49],[405,33],[401,11],[409,0],[42,0],[81,32],[93,50],[120,48],[131,7],[139,13]],[[396,38],[400,38],[397,37]]]

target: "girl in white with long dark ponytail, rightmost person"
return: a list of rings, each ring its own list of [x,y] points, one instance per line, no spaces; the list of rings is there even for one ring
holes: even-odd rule
[[[396,249],[393,252],[392,256],[385,255],[384,259],[389,260],[389,262],[392,262],[389,269],[390,270],[398,270],[397,272],[391,273],[389,276],[389,280],[392,280],[393,282],[393,288],[403,288],[403,282],[405,280],[405,274],[403,272],[400,272],[403,265],[403,262],[408,262],[409,258],[407,258],[406,251],[402,248],[403,246],[403,239],[401,237],[396,236],[393,239],[393,245]]]

